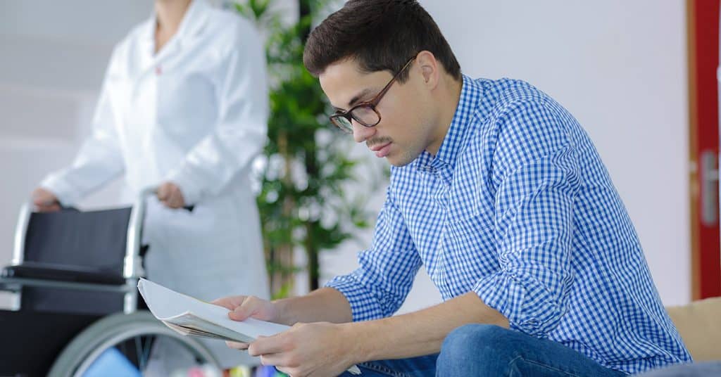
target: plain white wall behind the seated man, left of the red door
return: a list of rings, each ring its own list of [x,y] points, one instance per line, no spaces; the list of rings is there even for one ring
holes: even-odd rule
[[[578,118],[629,210],[663,302],[688,302],[684,1],[420,2],[464,74],[524,79]],[[353,270],[354,251],[327,254],[327,272]],[[402,311],[438,300],[427,276],[416,281]]]

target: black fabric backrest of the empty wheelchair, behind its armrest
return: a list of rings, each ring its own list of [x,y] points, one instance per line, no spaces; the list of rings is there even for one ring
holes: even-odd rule
[[[77,267],[122,277],[131,209],[32,213],[25,234],[23,263],[70,270]],[[25,287],[20,297],[20,309],[24,311],[123,311],[123,293]]]

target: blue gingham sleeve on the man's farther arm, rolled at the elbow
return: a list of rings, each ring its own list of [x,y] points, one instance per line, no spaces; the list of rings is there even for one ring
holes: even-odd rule
[[[390,189],[371,248],[358,254],[358,262],[361,267],[333,278],[326,286],[348,298],[353,321],[392,316],[408,295],[422,262]]]

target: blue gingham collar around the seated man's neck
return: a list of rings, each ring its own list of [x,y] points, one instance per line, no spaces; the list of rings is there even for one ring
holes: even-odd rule
[[[423,151],[416,159],[416,169],[432,172],[444,168],[452,171],[456,167],[456,160],[470,128],[470,121],[483,94],[481,85],[468,76],[463,76],[461,85],[461,96],[456,112],[451,120],[451,126],[448,127],[448,133],[443,138],[441,148],[438,148],[438,154],[435,154],[434,157],[427,151]]]

